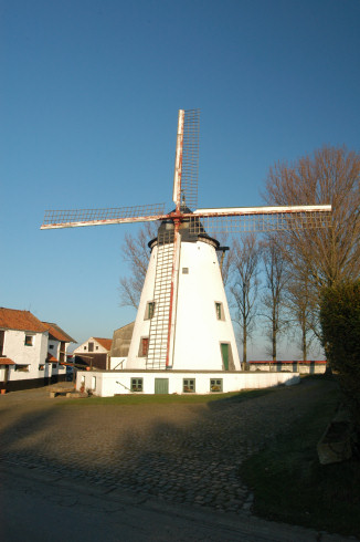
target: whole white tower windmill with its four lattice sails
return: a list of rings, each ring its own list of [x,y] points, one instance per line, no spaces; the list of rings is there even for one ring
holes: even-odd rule
[[[199,110],[180,110],[172,200],[165,205],[45,211],[41,229],[160,221],[126,368],[239,371],[240,361],[210,233],[329,226],[331,206],[197,209]]]

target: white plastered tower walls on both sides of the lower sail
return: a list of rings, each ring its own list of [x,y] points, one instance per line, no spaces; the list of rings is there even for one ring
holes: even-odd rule
[[[146,357],[139,356],[141,337],[149,336],[150,321],[145,319],[147,303],[153,301],[157,246],[147,270],[126,368],[146,368]],[[187,269],[188,272],[183,272]],[[223,319],[218,320],[215,303],[221,303]],[[222,371],[221,343],[230,345],[233,368],[240,371],[240,359],[227,306],[225,290],[213,242],[181,242],[177,306],[171,335],[170,366],[173,369]]]

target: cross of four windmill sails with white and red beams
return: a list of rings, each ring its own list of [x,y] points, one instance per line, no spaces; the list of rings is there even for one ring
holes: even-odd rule
[[[171,212],[165,211],[165,204],[105,209],[47,210],[41,226],[41,229],[46,230],[150,221],[173,223],[170,241],[173,242],[171,288],[170,293],[167,294],[169,295],[169,310],[167,313],[166,368],[170,366],[171,337],[174,335],[174,300],[179,272],[177,263],[181,243],[180,226],[183,221],[189,222],[190,233],[194,234],[268,232],[330,226],[330,205],[197,209],[199,118],[199,110],[179,111],[172,194],[174,209]],[[152,333],[156,333],[156,330],[152,330]],[[149,336],[149,343],[151,343],[151,336]],[[156,345],[153,352],[157,352]]]

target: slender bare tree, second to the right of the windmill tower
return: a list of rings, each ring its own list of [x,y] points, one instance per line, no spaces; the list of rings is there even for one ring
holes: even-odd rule
[[[265,285],[262,296],[266,336],[269,340],[268,353],[276,361],[278,337],[288,326],[284,317],[284,289],[287,281],[286,262],[272,237],[263,242]]]

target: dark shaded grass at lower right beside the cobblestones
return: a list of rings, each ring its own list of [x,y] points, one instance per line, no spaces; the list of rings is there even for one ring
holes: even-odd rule
[[[316,451],[339,400],[329,382],[310,413],[242,465],[241,477],[254,492],[255,514],[360,536],[359,458],[321,466]]]

